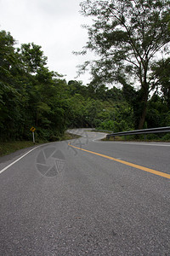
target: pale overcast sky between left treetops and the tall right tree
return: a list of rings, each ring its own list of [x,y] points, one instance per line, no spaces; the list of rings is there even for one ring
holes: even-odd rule
[[[88,20],[80,15],[78,0],[0,0],[0,30],[10,32],[19,44],[34,42],[42,46],[50,70],[66,75],[67,82],[77,76],[77,65],[87,59],[72,54],[81,50],[88,34],[81,27]],[[77,80],[89,82],[89,74]]]

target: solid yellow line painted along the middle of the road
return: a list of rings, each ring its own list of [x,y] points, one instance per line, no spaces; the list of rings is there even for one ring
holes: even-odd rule
[[[159,172],[159,171],[156,171],[156,170],[144,167],[144,166],[138,166],[138,165],[135,165],[133,163],[129,163],[129,162],[124,161],[124,160],[116,159],[114,157],[111,157],[111,156],[108,156],[108,155],[105,155],[105,154],[99,154],[99,153],[96,153],[94,151],[89,151],[89,150],[84,149],[84,148],[78,148],[78,147],[75,147],[75,146],[71,145],[70,143],[68,143],[68,145],[71,146],[72,148],[77,148],[79,150],[82,150],[82,151],[85,151],[85,152],[88,152],[88,153],[91,153],[91,154],[96,154],[96,155],[105,157],[107,159],[114,160],[114,161],[122,163],[123,165],[126,165],[126,166],[132,166],[132,167],[137,168],[139,170],[142,170],[144,172],[150,172],[150,173],[156,174],[156,175],[161,176],[161,177],[170,178],[170,174],[167,174],[165,172]]]

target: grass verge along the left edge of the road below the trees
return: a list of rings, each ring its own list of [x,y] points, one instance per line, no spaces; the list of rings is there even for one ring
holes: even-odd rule
[[[80,136],[65,132],[63,137],[60,137],[60,141],[65,140],[71,140],[76,139]],[[47,141],[38,141],[38,143],[35,143],[35,145],[40,145],[42,143],[48,143]],[[7,143],[0,143],[0,156],[14,153],[17,150],[20,150],[22,148],[29,148],[31,146],[34,146],[34,144],[31,141],[15,141],[15,142],[7,142]]]

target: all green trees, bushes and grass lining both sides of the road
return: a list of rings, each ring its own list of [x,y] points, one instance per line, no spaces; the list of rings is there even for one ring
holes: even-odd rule
[[[66,82],[48,69],[41,46],[19,47],[10,32],[0,31],[1,154],[30,146],[32,126],[37,143],[59,141],[68,128],[170,126],[170,3],[106,2],[81,3],[82,15],[94,17],[94,24],[76,54],[91,50],[99,56],[80,67],[79,73],[89,67],[89,84]],[[169,140],[168,134],[156,137]]]

